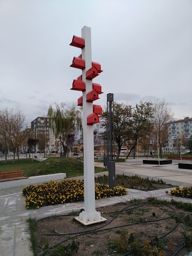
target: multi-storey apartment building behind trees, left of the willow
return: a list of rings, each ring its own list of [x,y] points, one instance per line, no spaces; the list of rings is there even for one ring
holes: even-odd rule
[[[55,135],[50,127],[50,118],[48,116],[38,116],[34,121],[31,122],[31,135],[33,138],[37,138],[38,134],[44,134],[47,138],[49,138],[49,150],[50,152],[55,151],[54,143],[55,143]],[[49,152],[48,148],[46,148],[46,152]],[[38,145],[34,149],[35,153],[40,153],[38,149]]]

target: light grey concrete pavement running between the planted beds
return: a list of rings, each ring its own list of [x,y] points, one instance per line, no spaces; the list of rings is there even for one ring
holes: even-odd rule
[[[141,159],[140,159],[141,160]],[[103,167],[103,163],[95,162],[96,166]],[[151,165],[143,165],[137,160],[130,160],[128,163],[116,164],[117,174],[135,175],[141,177],[149,177],[153,179],[162,179],[168,181],[172,185],[192,185],[192,170],[178,169],[175,163],[171,165],[156,167]],[[108,173],[103,172],[104,173]],[[99,175],[101,173],[97,173]],[[79,177],[82,179],[83,177]],[[17,188],[14,188],[17,191]],[[128,190],[127,195],[120,197],[110,197],[106,199],[96,200],[96,207],[113,205],[122,201],[129,201],[132,198],[145,199],[150,196],[171,200],[172,196],[167,195],[165,191],[168,189],[156,191],[139,191]],[[11,190],[12,191],[12,190]],[[26,219],[43,218],[47,216],[65,214],[72,210],[80,210],[84,208],[84,202],[76,202],[62,204],[57,206],[41,207],[36,210],[26,210],[24,207],[25,197],[20,193],[21,188],[18,188],[18,193],[11,195],[0,196],[0,256],[32,256],[30,251],[30,242],[28,240],[29,233],[27,232]],[[190,202],[192,199],[174,197],[177,201]]]

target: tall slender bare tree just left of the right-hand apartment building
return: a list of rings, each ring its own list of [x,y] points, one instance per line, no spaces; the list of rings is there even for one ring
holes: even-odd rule
[[[169,122],[173,119],[173,112],[168,108],[165,99],[156,99],[154,102],[154,129],[157,136],[157,147],[160,148],[160,158],[162,158],[162,147],[168,139]]]

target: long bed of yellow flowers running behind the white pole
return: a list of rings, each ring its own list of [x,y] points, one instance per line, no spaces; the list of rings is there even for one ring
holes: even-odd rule
[[[63,180],[39,185],[29,185],[22,190],[26,197],[25,207],[37,209],[42,206],[58,205],[77,201],[84,201],[84,181]],[[127,189],[116,186],[109,189],[108,185],[95,184],[96,199],[127,194]]]

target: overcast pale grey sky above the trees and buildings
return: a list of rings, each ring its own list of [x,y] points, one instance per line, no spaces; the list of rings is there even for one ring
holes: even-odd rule
[[[76,103],[81,49],[69,44],[84,25],[103,70],[95,104],[165,98],[175,120],[192,117],[192,0],[0,0],[0,109],[19,106],[30,124]]]

